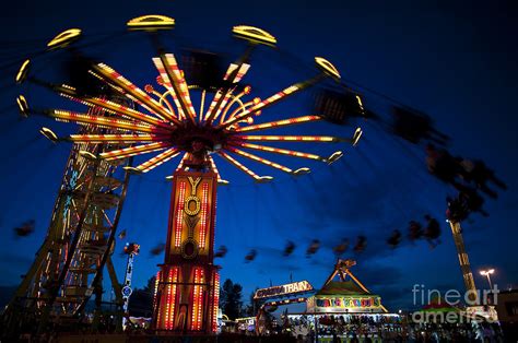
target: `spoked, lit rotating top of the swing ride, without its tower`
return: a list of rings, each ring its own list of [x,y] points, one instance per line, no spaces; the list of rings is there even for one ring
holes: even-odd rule
[[[130,28],[145,31],[170,28],[173,25],[173,19],[160,15],[143,16],[128,23]],[[271,46],[276,43],[272,35],[257,27],[235,26],[233,33],[237,37],[248,40],[251,48],[261,44]],[[68,31],[55,39],[58,39],[58,45],[63,45],[78,35],[80,35],[80,32]],[[221,177],[217,166],[211,156],[212,154],[220,155],[229,164],[260,182],[269,181],[272,177],[258,175],[245,165],[242,157],[287,174],[299,175],[309,173],[309,168],[299,167],[293,169],[274,161],[258,156],[255,152],[332,163],[343,155],[341,151],[337,151],[330,156],[320,156],[272,145],[278,142],[350,142],[353,145],[357,143],[362,135],[360,128],[354,131],[351,138],[346,139],[329,135],[260,134],[260,131],[267,129],[271,130],[322,120],[318,115],[309,115],[262,123],[254,122],[255,117],[267,107],[316,84],[322,79],[332,78],[338,81],[340,73],[329,61],[321,57],[316,57],[315,62],[319,72],[314,78],[289,85],[262,99],[259,97],[246,99],[250,95],[251,87],[243,86],[240,82],[250,70],[250,64],[247,63],[247,56],[250,51],[250,48],[247,49],[243,57],[228,66],[223,75],[223,85],[213,92],[197,85],[189,85],[174,54],[160,54],[152,58],[152,63],[157,71],[156,81],[162,91],[156,91],[150,84],[141,88],[111,67],[105,63],[96,63],[92,67],[90,73],[102,80],[107,86],[116,91],[117,94],[140,105],[140,109],[133,109],[107,98],[82,95],[71,85],[52,85],[51,88],[61,96],[80,102],[91,108],[99,108],[111,116],[106,118],[104,116],[67,109],[48,109],[44,111],[46,116],[58,121],[109,128],[120,133],[86,133],[58,138],[51,130],[45,128],[45,134],[56,141],[66,140],[73,143],[131,144],[131,146],[123,149],[104,151],[96,156],[104,161],[122,159],[141,154],[154,154],[134,167],[126,167],[134,173],[148,173],[175,157],[179,161],[177,170],[188,169],[189,165],[186,165],[186,162],[192,158],[196,159],[192,156],[196,154],[196,144],[201,143],[204,150],[203,163],[207,164],[209,169],[217,174],[220,184],[228,184],[228,181]],[[24,72],[25,70],[22,68],[19,76],[23,78]],[[191,99],[191,92],[195,90],[201,92],[201,104],[197,106],[198,108],[195,107]],[[358,105],[362,106],[360,96],[356,96],[356,98]],[[28,110],[25,98],[20,97],[19,105],[22,111]]]

